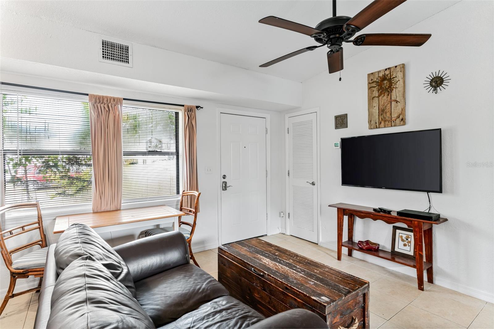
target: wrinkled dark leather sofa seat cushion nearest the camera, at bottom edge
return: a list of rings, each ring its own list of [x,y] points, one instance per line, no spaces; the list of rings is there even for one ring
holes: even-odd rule
[[[260,313],[241,301],[232,296],[223,296],[201,305],[161,329],[248,328],[263,319]]]

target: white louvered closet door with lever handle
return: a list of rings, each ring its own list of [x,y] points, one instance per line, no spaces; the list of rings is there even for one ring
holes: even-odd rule
[[[289,233],[317,243],[316,113],[288,118]]]

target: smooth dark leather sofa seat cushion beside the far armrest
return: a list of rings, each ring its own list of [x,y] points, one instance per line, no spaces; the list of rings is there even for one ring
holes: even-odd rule
[[[163,326],[177,320],[228,290],[193,264],[180,265],[135,283],[137,301],[153,320]]]

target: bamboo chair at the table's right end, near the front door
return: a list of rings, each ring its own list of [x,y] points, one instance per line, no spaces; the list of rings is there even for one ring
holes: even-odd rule
[[[194,196],[196,199],[194,202],[194,208],[184,207],[183,206],[184,198],[189,198],[192,196]],[[196,229],[197,207],[199,206],[199,197],[200,196],[201,196],[201,193],[197,192],[197,191],[183,191],[182,196],[180,197],[180,208],[179,209],[180,209],[180,211],[182,211],[186,215],[194,216],[194,220],[192,221],[192,223],[190,223],[190,222],[183,221],[182,216],[178,217],[178,230],[185,236],[185,239],[187,240],[187,244],[189,245],[190,258],[192,259],[192,261],[194,262],[194,264],[197,267],[200,267],[200,266],[199,266],[198,262],[196,261],[194,254],[192,253],[191,243],[192,243],[192,236],[194,235],[194,231]],[[185,227],[182,227],[182,224],[190,226],[190,230],[186,229]],[[171,227],[160,227],[160,228],[155,228],[155,229],[149,229],[149,230],[146,230],[144,232],[144,236],[150,237],[152,235],[161,234],[161,233],[165,233],[165,232],[171,232],[171,231],[173,231],[173,228],[171,228]]]

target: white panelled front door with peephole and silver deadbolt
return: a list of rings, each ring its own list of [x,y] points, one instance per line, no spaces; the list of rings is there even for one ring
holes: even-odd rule
[[[221,243],[267,233],[266,119],[220,114]]]

